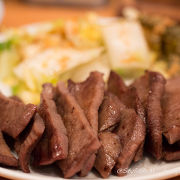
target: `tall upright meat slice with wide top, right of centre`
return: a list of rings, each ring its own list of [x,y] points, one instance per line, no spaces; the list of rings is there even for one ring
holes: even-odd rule
[[[138,97],[147,114],[146,150],[156,159],[162,158],[162,98],[165,89],[165,79],[157,72],[146,71],[145,75],[135,80]]]

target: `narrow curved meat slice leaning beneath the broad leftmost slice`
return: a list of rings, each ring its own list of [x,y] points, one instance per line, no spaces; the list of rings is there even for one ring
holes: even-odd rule
[[[30,162],[30,156],[36,144],[40,140],[44,132],[44,129],[44,122],[42,118],[39,116],[39,114],[36,113],[34,120],[32,122],[32,126],[30,127],[29,133],[26,135],[26,137],[23,137],[23,141],[21,141],[18,153],[20,167],[26,173],[30,172],[28,167],[28,164]]]

